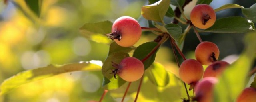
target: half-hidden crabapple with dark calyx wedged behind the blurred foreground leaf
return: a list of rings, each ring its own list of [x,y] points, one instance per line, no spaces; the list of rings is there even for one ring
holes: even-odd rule
[[[204,77],[218,77],[230,65],[226,61],[216,61],[210,64],[204,71]]]

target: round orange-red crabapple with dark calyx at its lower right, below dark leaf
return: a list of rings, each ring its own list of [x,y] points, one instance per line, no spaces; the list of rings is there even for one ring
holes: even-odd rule
[[[208,41],[201,42],[195,50],[196,60],[202,65],[210,65],[219,58],[219,48],[216,44]]]

